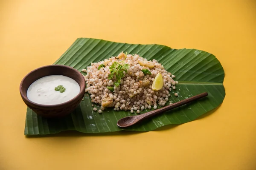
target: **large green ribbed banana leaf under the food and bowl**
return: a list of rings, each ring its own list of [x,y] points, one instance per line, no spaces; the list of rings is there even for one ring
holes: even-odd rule
[[[93,103],[89,96],[85,95],[76,110],[61,119],[46,119],[37,116],[27,108],[25,135],[53,134],[66,130],[77,130],[83,133],[155,130],[164,125],[182,124],[195,120],[223,102],[225,97],[224,70],[218,59],[205,51],[185,48],[177,50],[157,44],[126,44],[79,38],[54,64],[68,65],[81,71],[91,62],[99,62],[111,56],[117,56],[121,51],[127,51],[128,54],[139,54],[148,60],[157,59],[157,62],[162,63],[167,71],[175,74],[176,78],[174,79],[179,84],[176,85],[175,91],[170,92],[172,103],[203,92],[208,92],[208,96],[132,127],[120,128],[116,125],[119,119],[136,113],[113,111],[113,108],[108,108],[103,113],[97,113],[92,109]],[[174,95],[175,92],[178,93],[178,97]],[[144,110],[142,113],[148,111]]]

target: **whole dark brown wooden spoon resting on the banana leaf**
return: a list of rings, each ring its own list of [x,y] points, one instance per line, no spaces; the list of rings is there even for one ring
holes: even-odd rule
[[[202,97],[205,97],[207,95],[208,95],[208,93],[204,92],[204,93],[198,94],[196,96],[189,97],[188,99],[181,100],[181,101],[179,101],[177,103],[174,103],[172,105],[165,106],[163,108],[160,108],[160,109],[157,109],[157,110],[154,110],[154,111],[150,111],[148,113],[144,113],[144,114],[140,114],[140,115],[136,115],[136,116],[124,117],[122,119],[119,119],[119,121],[117,122],[117,126],[119,126],[119,127],[128,127],[128,126],[134,125],[135,123],[140,122],[141,120],[147,119],[151,116],[163,113],[165,111],[169,111],[169,110],[177,108],[179,106],[186,105],[189,102],[195,101],[195,100],[200,99]]]

